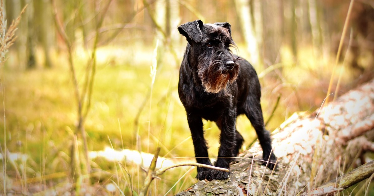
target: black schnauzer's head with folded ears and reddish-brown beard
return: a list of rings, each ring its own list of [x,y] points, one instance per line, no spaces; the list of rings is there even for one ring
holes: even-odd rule
[[[178,27],[179,33],[191,45],[188,54],[191,66],[196,66],[197,74],[208,93],[218,93],[234,82],[239,73],[239,60],[230,51],[236,47],[231,37],[228,22],[203,24],[201,20],[187,22]]]

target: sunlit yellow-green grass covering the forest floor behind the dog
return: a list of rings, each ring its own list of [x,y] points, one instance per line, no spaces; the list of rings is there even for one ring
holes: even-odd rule
[[[90,151],[112,147],[116,150],[132,149],[153,153],[161,147],[160,156],[166,158],[193,157],[194,150],[190,139],[190,131],[186,114],[178,98],[178,67],[173,60],[164,60],[158,65],[156,82],[151,96],[152,105],[148,100],[139,118],[138,129],[134,124],[148,89],[150,88],[150,65],[152,48],[101,48],[98,50],[98,67],[92,95],[91,111],[85,123]],[[140,52],[138,52],[140,51]],[[180,51],[183,51],[181,49]],[[310,49],[300,52],[300,59],[295,63],[289,55],[289,49],[282,50],[282,81],[274,78],[261,79],[263,86],[263,111],[267,120],[279,94],[281,102],[270,121],[269,130],[281,124],[285,118],[299,110],[313,110],[322,103],[324,89],[331,75],[329,58],[311,58]],[[123,54],[131,54],[123,56]],[[163,59],[173,59],[171,55],[162,53]],[[245,57],[245,53],[240,54]],[[180,57],[182,55],[180,54]],[[77,50],[75,64],[78,81],[83,83],[85,52]],[[64,56],[56,58],[56,66],[52,69],[20,70],[14,64],[7,64],[5,70],[5,110],[6,138],[0,134],[1,145],[6,140],[7,149],[11,153],[27,154],[26,162],[17,163],[17,170],[7,164],[7,175],[14,186],[33,191],[33,186],[45,185],[53,187],[67,183],[70,145],[77,119],[77,103],[74,99],[71,75]],[[14,62],[14,61],[10,61]],[[255,65],[258,73],[261,66]],[[321,72],[320,70],[324,70]],[[298,77],[295,77],[297,75]],[[346,76],[349,78],[349,76]],[[313,81],[313,82],[311,82]],[[319,91],[313,89],[319,88]],[[312,89],[312,90],[311,90]],[[307,96],[305,96],[307,95]],[[2,107],[2,105],[1,105]],[[0,109],[0,112],[3,108]],[[4,133],[3,114],[0,131]],[[149,118],[150,117],[150,118]],[[148,123],[150,121],[150,139]],[[211,156],[217,156],[219,147],[219,130],[214,123],[206,122],[206,138]],[[248,145],[255,138],[255,132],[248,119],[239,117],[238,130]],[[137,145],[137,132],[140,135]],[[78,142],[83,149],[82,142]],[[138,149],[140,147],[140,149]],[[83,157],[83,156],[82,156]],[[177,162],[194,158],[173,159]],[[81,163],[83,164],[83,163]],[[108,184],[116,184],[125,195],[138,193],[144,180],[145,172],[133,164],[108,162],[96,158],[92,162],[92,187],[103,192]],[[153,195],[177,193],[196,183],[196,169],[177,168],[167,171],[162,180],[154,180],[150,192]],[[19,179],[19,177],[22,178]],[[18,183],[15,183],[18,182]],[[21,182],[21,183],[20,183]],[[177,183],[176,183],[177,182]],[[27,185],[27,186],[26,186]],[[174,186],[175,185],[175,186]],[[72,191],[67,189],[67,191]],[[112,194],[108,192],[108,194]],[[116,190],[113,195],[120,194]]]

